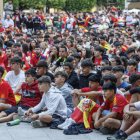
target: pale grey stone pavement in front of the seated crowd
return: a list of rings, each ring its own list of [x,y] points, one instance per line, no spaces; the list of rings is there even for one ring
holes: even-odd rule
[[[62,130],[50,128],[32,128],[29,123],[7,126],[0,123],[0,140],[106,140],[107,136],[93,130],[89,134],[64,135]],[[140,140],[140,133],[130,136],[131,140]]]

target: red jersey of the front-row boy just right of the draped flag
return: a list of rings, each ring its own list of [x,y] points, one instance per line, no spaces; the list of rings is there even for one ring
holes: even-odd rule
[[[116,119],[123,119],[123,109],[129,104],[127,100],[120,94],[115,94],[113,102],[107,99],[101,106],[103,110],[111,110],[111,112],[117,112]]]

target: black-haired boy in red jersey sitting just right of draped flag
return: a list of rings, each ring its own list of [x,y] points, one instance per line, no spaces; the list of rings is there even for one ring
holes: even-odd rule
[[[116,94],[116,85],[114,83],[108,82],[102,88],[106,100],[96,113],[94,127],[95,129],[100,128],[99,131],[103,134],[110,134],[120,128],[120,120],[123,119],[123,109],[128,102],[122,95]],[[104,110],[111,110],[111,113],[103,116],[102,112]]]

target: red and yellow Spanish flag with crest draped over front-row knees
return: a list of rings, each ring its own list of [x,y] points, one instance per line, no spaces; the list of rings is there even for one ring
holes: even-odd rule
[[[94,112],[97,112],[99,107],[100,106],[91,99],[84,98],[74,110],[71,118],[76,123],[84,123],[86,129],[93,129],[91,117]]]

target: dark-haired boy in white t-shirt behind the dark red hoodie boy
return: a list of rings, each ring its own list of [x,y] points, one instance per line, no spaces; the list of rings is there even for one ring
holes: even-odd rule
[[[12,71],[9,71],[5,76],[5,81],[9,83],[11,86],[13,93],[17,96],[21,96],[21,85],[23,82],[25,82],[25,74],[21,70],[22,60],[19,57],[13,57],[10,60],[11,63],[11,69]],[[16,99],[16,102],[18,103],[18,99]]]

